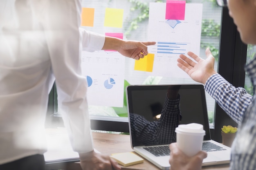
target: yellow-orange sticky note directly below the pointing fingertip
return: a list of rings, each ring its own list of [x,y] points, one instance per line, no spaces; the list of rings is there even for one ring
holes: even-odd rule
[[[134,70],[152,72],[154,57],[155,57],[155,54],[148,54],[148,55],[145,55],[144,58],[135,60]]]

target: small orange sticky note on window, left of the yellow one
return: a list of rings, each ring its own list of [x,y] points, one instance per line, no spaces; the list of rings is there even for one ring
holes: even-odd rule
[[[82,8],[81,26],[93,26],[94,8]]]

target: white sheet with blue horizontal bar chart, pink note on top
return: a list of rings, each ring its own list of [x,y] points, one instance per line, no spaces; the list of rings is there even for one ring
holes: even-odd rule
[[[157,44],[148,46],[155,54],[152,75],[189,78],[177,66],[180,54],[200,53],[202,4],[186,4],[184,20],[166,20],[166,3],[150,3],[148,40]]]

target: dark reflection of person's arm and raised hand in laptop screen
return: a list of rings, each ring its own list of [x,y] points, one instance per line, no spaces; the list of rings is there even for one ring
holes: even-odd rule
[[[180,86],[168,86],[166,95],[162,95],[164,103],[157,101],[149,105],[151,114],[143,116],[130,113],[131,134],[138,136],[132,138],[135,139],[133,144],[170,144],[176,141],[174,131],[182,118],[179,88]],[[157,119],[156,116],[159,115],[161,116]]]

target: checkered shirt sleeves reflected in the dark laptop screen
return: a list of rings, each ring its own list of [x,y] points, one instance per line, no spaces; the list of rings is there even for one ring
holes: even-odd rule
[[[132,144],[154,145],[170,144],[176,141],[175,128],[181,119],[180,95],[178,99],[166,97],[159,121],[148,121],[143,116],[130,113]]]

